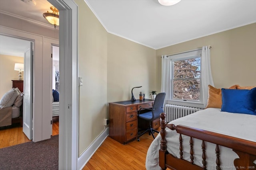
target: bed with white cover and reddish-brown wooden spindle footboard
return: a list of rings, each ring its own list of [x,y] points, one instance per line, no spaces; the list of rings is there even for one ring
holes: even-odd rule
[[[255,113],[256,97],[251,100]],[[254,114],[209,107],[168,124],[162,113],[160,126],[160,133],[148,149],[147,170],[256,169]]]

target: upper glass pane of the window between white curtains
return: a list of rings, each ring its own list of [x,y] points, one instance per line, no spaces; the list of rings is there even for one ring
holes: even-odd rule
[[[201,58],[174,61],[174,79],[200,78]]]

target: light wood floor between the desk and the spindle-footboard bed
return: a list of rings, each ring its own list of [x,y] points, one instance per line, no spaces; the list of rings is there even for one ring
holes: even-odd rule
[[[140,142],[126,145],[107,137],[82,170],[146,170],[146,154],[152,141],[148,133],[140,137]]]

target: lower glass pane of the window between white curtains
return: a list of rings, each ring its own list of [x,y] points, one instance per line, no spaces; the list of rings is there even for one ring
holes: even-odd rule
[[[173,99],[199,100],[200,79],[173,80]]]

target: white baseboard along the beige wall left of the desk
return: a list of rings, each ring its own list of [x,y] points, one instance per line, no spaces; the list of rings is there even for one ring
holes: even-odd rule
[[[77,169],[82,170],[86,163],[90,160],[94,152],[100,147],[104,142],[106,137],[108,137],[108,127],[91,143],[91,145],[82,153],[78,158]]]

